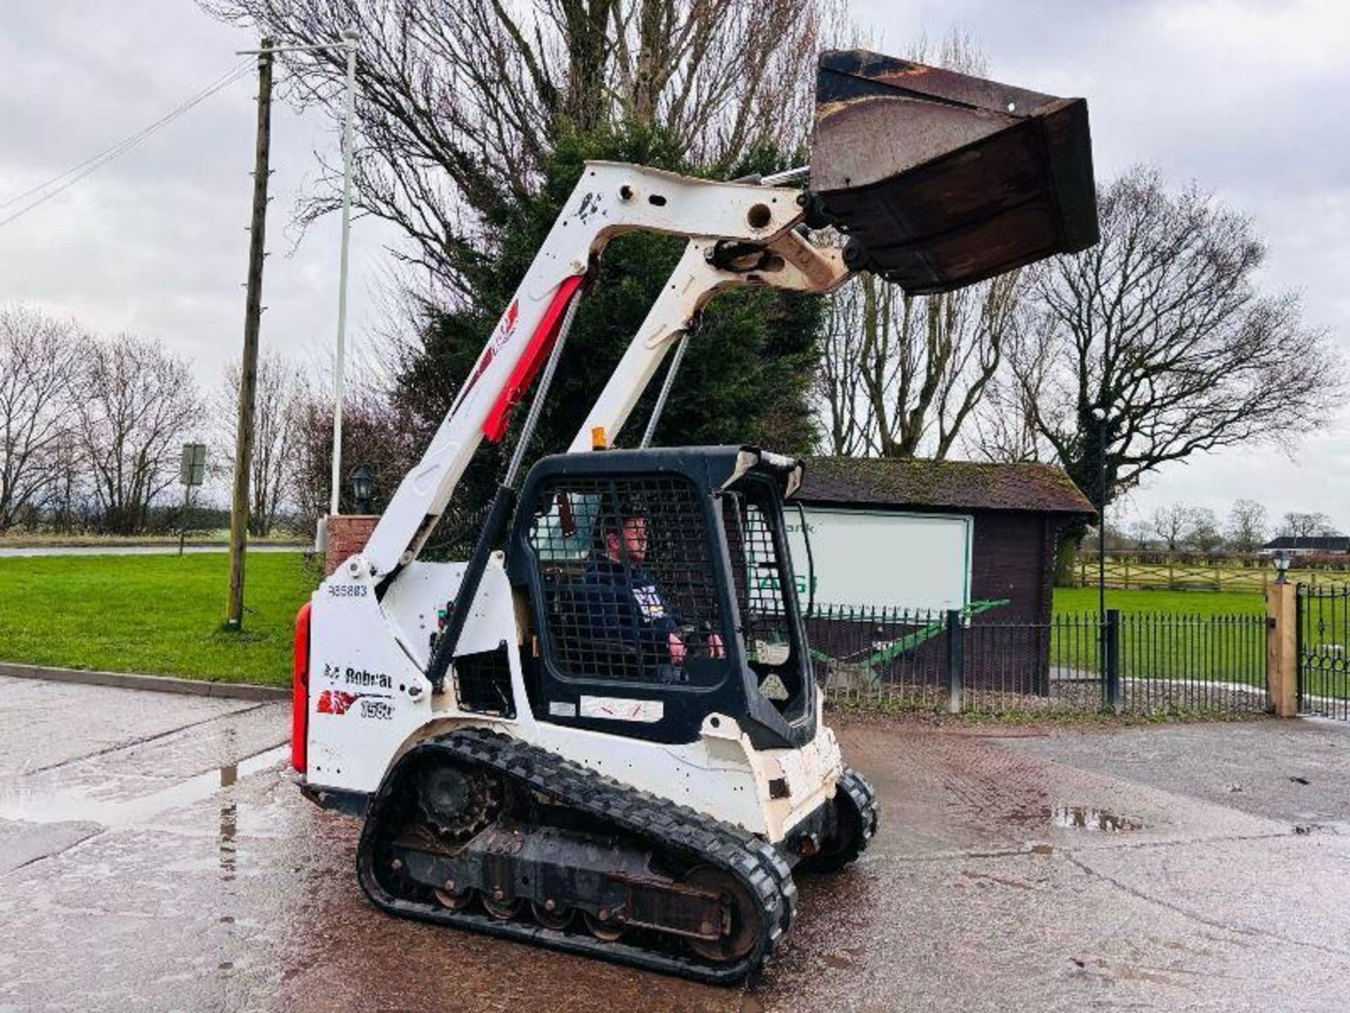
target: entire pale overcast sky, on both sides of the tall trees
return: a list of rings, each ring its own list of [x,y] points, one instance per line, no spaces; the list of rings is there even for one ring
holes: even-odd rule
[[[1269,240],[1262,282],[1295,288],[1307,316],[1350,354],[1350,4],[855,0],[876,47],[919,31],[969,31],[990,76],[1085,96],[1099,180],[1156,162],[1254,219]],[[190,0],[4,0],[0,4],[0,204],[157,120],[255,45]],[[212,386],[239,354],[255,92],[246,76],[24,217],[0,226],[0,304],[26,303],[103,331],[158,336]],[[271,255],[263,347],[321,357],[336,331],[338,222],[286,226],[313,184],[313,151],[338,153],[317,116],[273,122]],[[5,217],[15,207],[0,208]],[[387,313],[394,242],[354,227],[351,340],[370,347]],[[294,250],[293,250],[294,247]],[[1289,458],[1227,450],[1173,465],[1129,504],[1234,498],[1320,511],[1350,529],[1350,411]]]

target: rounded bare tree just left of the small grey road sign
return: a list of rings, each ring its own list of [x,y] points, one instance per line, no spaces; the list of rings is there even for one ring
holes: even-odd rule
[[[78,386],[80,450],[103,525],[135,534],[177,478],[182,438],[201,421],[192,371],[158,342],[123,334],[89,343]]]

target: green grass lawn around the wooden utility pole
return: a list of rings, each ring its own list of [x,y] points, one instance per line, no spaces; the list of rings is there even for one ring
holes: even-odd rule
[[[288,686],[316,583],[300,552],[250,555],[244,628],[225,633],[227,552],[0,559],[0,660]]]

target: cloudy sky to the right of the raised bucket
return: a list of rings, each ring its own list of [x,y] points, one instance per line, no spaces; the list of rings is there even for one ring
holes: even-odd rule
[[[991,77],[1085,96],[1099,180],[1153,162],[1174,185],[1193,180],[1250,215],[1269,243],[1262,284],[1299,290],[1307,319],[1350,358],[1350,135],[1339,113],[1350,4],[865,0],[853,14],[892,53],[918,31],[964,28],[988,53]],[[1223,513],[1238,497],[1265,497],[1272,512],[1320,511],[1350,529],[1347,463],[1342,412],[1293,462],[1262,447],[1196,457],[1150,478],[1130,506],[1146,516],[1188,500]]]

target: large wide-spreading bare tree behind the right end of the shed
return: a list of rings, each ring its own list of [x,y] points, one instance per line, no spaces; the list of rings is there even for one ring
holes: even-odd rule
[[[1096,504],[1106,411],[1107,501],[1172,461],[1292,443],[1343,389],[1328,335],[1293,293],[1262,294],[1249,219],[1157,170],[1099,192],[1102,242],[1030,269],[1034,319],[1013,382],[1044,442]],[[1081,534],[1071,532],[1072,536]]]

